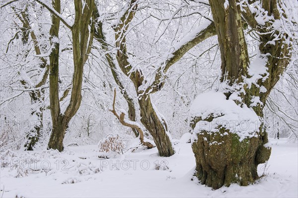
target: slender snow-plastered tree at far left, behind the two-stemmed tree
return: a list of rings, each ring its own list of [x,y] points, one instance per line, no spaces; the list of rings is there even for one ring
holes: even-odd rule
[[[19,61],[19,58],[22,59],[23,62],[33,61],[34,59],[38,60],[38,64],[36,67],[31,66],[29,69],[26,69],[25,66],[21,66],[20,69],[26,70],[26,75],[20,74],[20,83],[24,87],[24,91],[29,92],[29,96],[31,99],[31,104],[33,105],[31,110],[31,116],[34,117],[34,127],[27,132],[27,140],[25,142],[25,150],[33,150],[34,145],[38,142],[40,132],[43,128],[43,111],[45,109],[44,103],[44,85],[47,82],[49,75],[49,63],[45,57],[42,56],[43,49],[41,49],[41,43],[37,38],[37,35],[33,28],[31,27],[32,21],[29,12],[32,11],[32,7],[35,5],[34,3],[24,3],[24,7],[21,8],[18,5],[14,5],[13,3],[6,3],[4,6],[10,6],[13,10],[14,15],[20,21],[21,27],[15,22],[15,28],[17,31],[12,39],[7,43],[6,52],[7,54],[13,53],[13,42],[16,42],[18,38],[21,40],[21,44],[24,48],[20,49],[16,54],[15,64]],[[33,6],[32,6],[33,5]],[[38,14],[38,13],[37,13]],[[30,43],[33,43],[33,51],[34,55],[32,57],[31,48],[28,47]],[[11,51],[11,52],[10,52]],[[12,60],[10,60],[12,61]],[[36,78],[37,76],[37,78]],[[4,101],[6,102],[6,101]],[[3,103],[1,103],[3,104]]]

